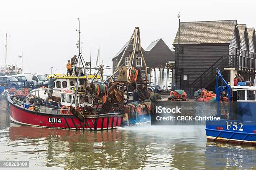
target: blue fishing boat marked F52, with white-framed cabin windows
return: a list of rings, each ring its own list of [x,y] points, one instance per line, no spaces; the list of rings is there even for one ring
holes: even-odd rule
[[[207,140],[256,146],[255,83],[253,86],[230,86],[220,70],[216,70],[215,85],[217,115],[214,117],[219,120],[206,121]],[[224,102],[225,96],[228,102]]]

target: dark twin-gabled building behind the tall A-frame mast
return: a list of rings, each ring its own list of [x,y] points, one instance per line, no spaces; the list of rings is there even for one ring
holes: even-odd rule
[[[126,42],[125,45],[115,55],[115,57],[112,58],[113,67],[115,67],[118,64],[127,45],[128,42]],[[129,55],[131,55],[131,53],[129,52],[130,48],[132,48],[132,44],[129,45],[127,50],[128,52],[125,52],[125,55],[123,57],[123,60],[121,61],[120,66],[128,65]],[[161,38],[151,42],[150,45],[148,45],[148,47],[146,48],[146,50],[142,48],[142,53],[146,60],[146,65],[149,68],[165,67],[166,63],[168,63],[169,61],[175,61],[175,52],[173,52]],[[140,54],[138,54],[138,59],[133,62],[133,67],[142,67],[142,64],[143,63],[141,62],[141,56]],[[113,71],[114,70],[115,69],[113,69]]]

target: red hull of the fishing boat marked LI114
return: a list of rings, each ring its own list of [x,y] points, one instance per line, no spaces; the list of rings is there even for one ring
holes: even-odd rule
[[[13,103],[10,97],[8,97],[8,102],[11,121],[23,125],[75,130],[106,130],[120,127],[123,118],[120,113],[87,115],[84,122],[81,122],[74,115],[56,115],[28,110]]]

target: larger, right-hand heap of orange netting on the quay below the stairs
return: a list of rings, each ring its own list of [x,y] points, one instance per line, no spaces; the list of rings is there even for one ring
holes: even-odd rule
[[[201,88],[197,90],[194,94],[195,101],[198,102],[215,102],[216,101],[216,94],[212,91],[207,91],[205,88]]]

